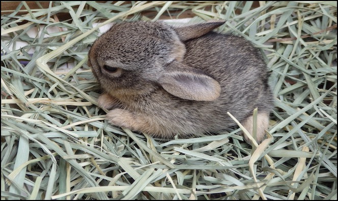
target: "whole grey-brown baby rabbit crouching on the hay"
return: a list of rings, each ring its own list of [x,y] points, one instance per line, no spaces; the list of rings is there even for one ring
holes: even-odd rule
[[[101,35],[89,66],[104,91],[98,104],[110,110],[107,120],[171,138],[236,126],[229,111],[252,133],[258,107],[257,141],[264,139],[273,107],[266,64],[245,39],[212,32],[223,23],[123,22]]]

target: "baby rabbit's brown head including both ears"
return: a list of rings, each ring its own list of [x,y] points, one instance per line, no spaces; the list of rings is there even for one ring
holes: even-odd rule
[[[183,99],[210,101],[219,83],[182,64],[184,41],[200,37],[224,22],[175,27],[161,22],[113,25],[89,51],[89,65],[103,90],[115,97],[151,93],[161,86]]]

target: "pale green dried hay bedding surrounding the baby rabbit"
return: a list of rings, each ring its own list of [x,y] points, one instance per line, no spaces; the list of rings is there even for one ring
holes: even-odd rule
[[[336,199],[336,2],[259,4],[21,2],[2,12],[2,199]],[[87,53],[99,28],[186,13],[227,20],[219,31],[265,52],[276,99],[258,147],[240,128],[136,134],[96,106]]]

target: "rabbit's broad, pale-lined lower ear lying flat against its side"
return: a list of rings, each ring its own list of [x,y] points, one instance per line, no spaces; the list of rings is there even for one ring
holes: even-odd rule
[[[166,73],[158,80],[168,93],[179,98],[212,101],[220,95],[220,85],[213,78],[191,72]]]

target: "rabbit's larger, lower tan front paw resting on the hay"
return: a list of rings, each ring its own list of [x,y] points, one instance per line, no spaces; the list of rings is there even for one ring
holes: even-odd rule
[[[130,130],[142,130],[146,121],[125,109],[113,109],[107,113],[107,119],[112,125],[128,128]]]

